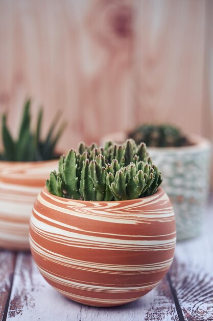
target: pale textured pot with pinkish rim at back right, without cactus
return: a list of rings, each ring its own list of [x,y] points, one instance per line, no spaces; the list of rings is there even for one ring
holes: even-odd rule
[[[116,132],[103,137],[102,144],[126,139],[127,133]],[[188,135],[187,140],[191,146],[148,148],[175,211],[177,240],[201,233],[209,193],[210,143],[199,135]]]

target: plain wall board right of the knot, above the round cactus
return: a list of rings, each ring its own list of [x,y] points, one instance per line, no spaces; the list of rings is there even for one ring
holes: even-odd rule
[[[137,123],[167,121],[200,133],[205,2],[137,4]]]

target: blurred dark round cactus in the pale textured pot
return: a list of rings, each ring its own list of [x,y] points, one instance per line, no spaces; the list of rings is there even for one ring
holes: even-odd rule
[[[141,125],[128,134],[137,144],[145,142],[148,147],[180,147],[188,145],[181,131],[171,125]]]

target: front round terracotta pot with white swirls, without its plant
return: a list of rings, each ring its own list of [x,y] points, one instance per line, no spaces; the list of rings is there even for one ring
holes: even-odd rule
[[[161,188],[120,202],[71,200],[44,188],[30,220],[40,273],[89,306],[119,306],[148,293],[169,270],[175,244],[174,211]]]

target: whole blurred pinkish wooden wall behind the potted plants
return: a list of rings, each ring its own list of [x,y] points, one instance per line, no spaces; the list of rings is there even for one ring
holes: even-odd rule
[[[213,136],[211,0],[0,0],[0,111],[63,110],[61,149],[140,122]],[[211,66],[211,67],[210,67]]]

